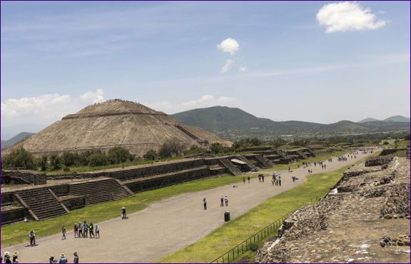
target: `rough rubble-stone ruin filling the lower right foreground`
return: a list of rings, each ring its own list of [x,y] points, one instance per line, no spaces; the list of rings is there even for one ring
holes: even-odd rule
[[[379,156],[350,168],[328,196],[295,210],[255,261],[409,262],[409,158]]]

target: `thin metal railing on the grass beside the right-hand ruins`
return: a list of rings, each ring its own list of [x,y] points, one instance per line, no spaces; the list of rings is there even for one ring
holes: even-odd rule
[[[258,233],[251,235],[250,238],[247,238],[240,244],[235,245],[234,248],[228,250],[223,255],[220,255],[220,257],[215,258],[215,260],[211,261],[211,263],[233,263],[234,260],[240,258],[240,255],[243,255],[245,252],[250,250],[252,245],[260,243],[260,241],[276,233],[287,216],[288,214],[278,218],[273,223],[270,223],[270,225],[267,225],[265,228],[258,231]]]

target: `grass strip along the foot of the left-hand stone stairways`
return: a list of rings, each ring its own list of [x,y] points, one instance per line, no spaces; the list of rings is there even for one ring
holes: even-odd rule
[[[250,177],[255,178],[256,175]],[[159,188],[153,191],[136,193],[134,196],[121,200],[113,200],[108,203],[86,206],[85,208],[78,210],[71,210],[71,212],[67,215],[41,220],[39,222],[29,221],[28,223],[12,223],[11,225],[3,225],[1,226],[1,246],[4,247],[14,245],[16,243],[26,241],[29,237],[30,230],[36,231],[37,238],[44,237],[46,235],[53,235],[60,232],[61,225],[65,225],[67,229],[71,229],[73,228],[74,223],[82,222],[83,220],[87,220],[88,223],[99,223],[103,220],[117,218],[121,215],[121,206],[126,206],[127,212],[133,213],[138,210],[143,210],[150,203],[158,200],[177,196],[182,193],[203,191],[241,181],[243,181],[242,176],[205,178],[188,183]]]

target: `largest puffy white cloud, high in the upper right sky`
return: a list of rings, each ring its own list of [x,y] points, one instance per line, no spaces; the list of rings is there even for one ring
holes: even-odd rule
[[[370,9],[364,9],[356,2],[326,4],[316,17],[318,23],[327,28],[327,33],[379,29],[387,24],[386,21],[377,21]]]

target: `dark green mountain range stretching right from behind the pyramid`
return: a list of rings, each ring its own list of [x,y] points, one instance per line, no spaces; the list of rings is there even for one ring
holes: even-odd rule
[[[268,118],[258,118],[240,108],[225,106],[198,108],[175,113],[171,116],[189,126],[199,126],[221,138],[230,140],[247,136],[258,136],[260,138],[273,138],[283,135],[333,136],[409,129],[409,123],[367,120],[364,123],[339,121],[330,124],[303,121],[277,122]]]

